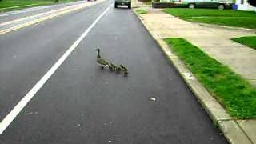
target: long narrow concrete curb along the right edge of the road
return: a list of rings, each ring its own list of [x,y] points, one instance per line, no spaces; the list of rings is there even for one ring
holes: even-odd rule
[[[133,9],[134,10],[134,9]],[[230,117],[226,113],[226,110],[215,100],[213,96],[210,95],[208,90],[198,81],[197,78],[186,68],[183,62],[171,52],[171,47],[167,46],[166,42],[162,38],[158,38],[158,34],[154,34],[154,28],[147,25],[145,20],[136,13],[140,21],[146,30],[154,38],[154,41],[158,43],[158,46],[161,47],[166,58],[173,63],[174,67],[181,75],[183,80],[186,82],[187,86],[190,87],[190,90],[193,92],[194,96],[198,99],[198,102],[204,107],[207,114],[214,122],[216,126],[222,131],[226,140],[232,144],[254,144],[252,140],[246,135],[241,126],[238,125],[237,120]]]

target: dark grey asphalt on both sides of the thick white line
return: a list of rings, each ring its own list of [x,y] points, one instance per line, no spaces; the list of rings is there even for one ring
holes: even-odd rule
[[[0,35],[1,119],[110,4]],[[101,47],[103,58],[128,66],[129,76],[101,70],[95,46]],[[0,143],[226,140],[133,11],[112,6],[0,135]]]

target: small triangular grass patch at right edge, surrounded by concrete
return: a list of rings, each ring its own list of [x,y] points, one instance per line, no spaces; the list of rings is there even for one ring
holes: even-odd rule
[[[232,38],[233,41],[241,43],[242,45],[249,46],[256,50],[256,36]]]

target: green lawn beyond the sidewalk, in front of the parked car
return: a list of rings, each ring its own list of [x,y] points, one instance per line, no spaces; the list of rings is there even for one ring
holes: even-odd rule
[[[254,11],[186,8],[164,9],[163,11],[190,22],[256,29],[256,13]]]

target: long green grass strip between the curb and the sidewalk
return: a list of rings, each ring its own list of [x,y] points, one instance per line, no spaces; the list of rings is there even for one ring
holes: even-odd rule
[[[231,116],[256,118],[256,89],[249,82],[185,39],[165,41]]]

